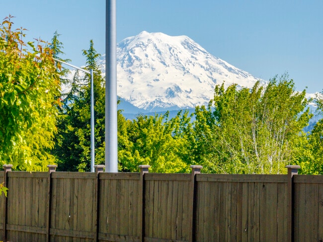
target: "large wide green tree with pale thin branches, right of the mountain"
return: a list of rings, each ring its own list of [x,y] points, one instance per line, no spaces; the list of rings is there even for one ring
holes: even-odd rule
[[[286,75],[263,87],[217,86],[208,108],[196,109],[196,153],[205,171],[283,173],[306,142],[311,114],[305,90],[296,92]]]

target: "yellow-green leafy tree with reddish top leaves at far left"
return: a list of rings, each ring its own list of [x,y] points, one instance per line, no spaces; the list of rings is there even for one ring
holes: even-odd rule
[[[52,50],[42,40],[23,41],[12,16],[0,25],[0,162],[13,169],[45,170],[54,162],[53,137],[60,79]]]

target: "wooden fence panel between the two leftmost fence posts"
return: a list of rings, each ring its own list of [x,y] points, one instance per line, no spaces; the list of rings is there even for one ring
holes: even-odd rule
[[[8,241],[46,241],[48,173],[8,172]]]

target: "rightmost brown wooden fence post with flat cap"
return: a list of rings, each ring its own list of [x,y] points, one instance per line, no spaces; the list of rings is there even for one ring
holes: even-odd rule
[[[287,241],[294,241],[294,185],[293,175],[298,174],[299,165],[286,165],[287,168],[287,187],[288,187],[288,202],[287,202]]]

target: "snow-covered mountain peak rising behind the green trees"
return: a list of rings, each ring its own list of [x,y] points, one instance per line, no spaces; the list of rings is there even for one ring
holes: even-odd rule
[[[224,81],[251,87],[258,79],[187,36],[143,31],[117,46],[118,96],[147,111],[207,104]]]

